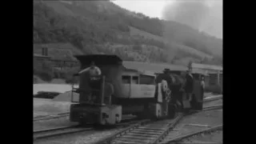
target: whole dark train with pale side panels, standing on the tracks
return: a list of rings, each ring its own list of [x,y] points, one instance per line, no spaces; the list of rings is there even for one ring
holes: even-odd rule
[[[102,71],[98,86],[90,86],[90,75],[78,75],[78,102],[70,105],[70,122],[81,125],[95,123],[115,125],[122,115],[133,114],[138,118],[173,118],[178,112],[202,110],[202,86],[194,77],[192,99],[186,98],[182,85],[186,81],[182,70],[162,70],[154,73],[128,69],[117,55],[76,55],[81,70],[94,62]]]

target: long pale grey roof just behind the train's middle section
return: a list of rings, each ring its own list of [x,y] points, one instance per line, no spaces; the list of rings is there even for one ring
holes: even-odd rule
[[[165,63],[148,63],[148,62],[130,62],[123,61],[122,65],[127,69],[139,70],[139,71],[150,71],[153,73],[162,73],[165,69],[170,70],[187,70],[186,66],[178,66]]]

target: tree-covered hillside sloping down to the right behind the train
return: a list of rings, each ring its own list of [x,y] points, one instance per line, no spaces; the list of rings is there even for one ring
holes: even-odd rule
[[[149,18],[109,1],[34,0],[34,43],[70,43],[84,54],[142,62],[222,63],[222,39]]]

